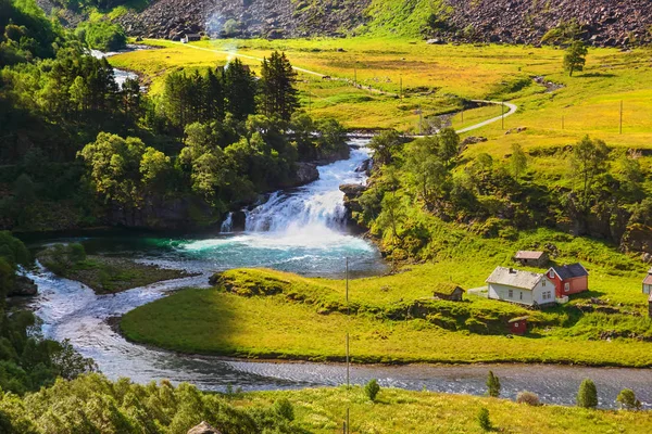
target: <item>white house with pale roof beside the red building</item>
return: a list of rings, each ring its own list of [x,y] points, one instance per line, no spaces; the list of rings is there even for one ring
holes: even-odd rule
[[[537,272],[497,267],[487,279],[489,298],[526,306],[556,303],[554,283]]]

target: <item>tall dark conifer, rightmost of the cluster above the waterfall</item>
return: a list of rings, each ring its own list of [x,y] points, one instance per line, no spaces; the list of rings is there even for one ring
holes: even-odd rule
[[[267,117],[279,116],[289,122],[299,107],[297,73],[285,53],[275,51],[261,67],[261,106]]]

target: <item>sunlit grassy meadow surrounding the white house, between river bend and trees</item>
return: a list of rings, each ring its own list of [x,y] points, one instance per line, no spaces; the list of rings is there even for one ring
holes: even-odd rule
[[[449,232],[452,232],[449,228]],[[454,234],[453,237],[459,235]],[[413,266],[412,270],[355,280],[350,299],[353,315],[342,314],[344,283],[306,279],[269,270],[229,271],[237,294],[217,290],[189,290],[127,314],[122,322],[125,334],[135,341],[183,352],[216,353],[249,357],[335,359],[343,358],[342,336],[352,333],[353,359],[359,362],[473,362],[543,361],[586,365],[652,366],[650,344],[630,339],[600,341],[604,331],[648,335],[652,323],[642,312],[645,297],[640,293],[644,267],[597,242],[555,240],[572,257],[585,261],[591,271],[591,293],[620,307],[623,314],[580,315],[566,306],[531,314],[535,328],[526,337],[506,339],[505,318],[527,314],[502,302],[469,296],[469,302],[437,302],[432,317],[391,320],[405,304],[430,296],[430,282],[452,280],[465,288],[481,285],[497,265],[510,264],[512,248],[550,240],[539,231],[523,237],[516,246],[499,240],[467,235],[460,244],[440,253],[435,264]],[[443,240],[442,240],[443,241]],[[448,241],[447,241],[448,243]],[[468,252],[476,252],[467,256]],[[452,256],[451,256],[452,255]],[[462,260],[473,257],[473,260]],[[616,270],[615,267],[622,268]],[[259,290],[274,294],[255,295]],[[575,299],[572,304],[582,302]],[[586,299],[585,299],[586,302]],[[451,314],[452,312],[452,314]],[[446,318],[441,318],[446,317]],[[468,318],[488,324],[493,335],[478,334]],[[402,319],[402,318],[399,318]],[[457,331],[439,327],[456,321]],[[471,332],[469,332],[471,331]]]

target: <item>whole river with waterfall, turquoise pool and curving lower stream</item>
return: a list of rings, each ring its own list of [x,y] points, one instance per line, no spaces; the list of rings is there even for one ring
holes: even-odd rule
[[[203,237],[149,237],[109,233],[92,237],[41,239],[83,242],[89,253],[136,258],[164,267],[183,268],[200,276],[156,283],[116,295],[98,296],[85,285],[40,269],[30,277],[40,295],[33,308],[43,320],[43,334],[71,340],[92,357],[111,379],[129,376],[139,383],[170,379],[190,382],[206,391],[227,386],[244,391],[339,385],[346,367],[339,363],[253,362],[217,357],[179,355],[126,342],[108,320],[185,286],[206,286],[215,271],[235,267],[271,267],[305,276],[343,277],[344,257],[353,276],[386,271],[375,246],[349,233],[344,221],[341,183],[362,183],[356,171],[368,158],[364,141],[354,141],[351,158],[319,168],[319,180],[303,188],[272,194],[248,212],[242,233]],[[228,231],[228,225],[223,228]],[[481,395],[488,370],[501,379],[503,396],[521,391],[537,393],[543,403],[574,405],[579,383],[592,379],[602,407],[613,407],[618,392],[634,388],[652,408],[652,371],[540,365],[498,366],[354,366],[351,381],[363,384],[378,379],[383,386]]]

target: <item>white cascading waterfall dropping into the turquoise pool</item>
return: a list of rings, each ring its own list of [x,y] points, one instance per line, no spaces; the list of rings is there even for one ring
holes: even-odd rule
[[[339,187],[364,183],[366,176],[355,169],[368,157],[366,148],[354,148],[349,159],[319,167],[317,181],[273,193],[267,202],[247,214],[246,231],[286,234],[343,232],[347,209],[344,194]]]

